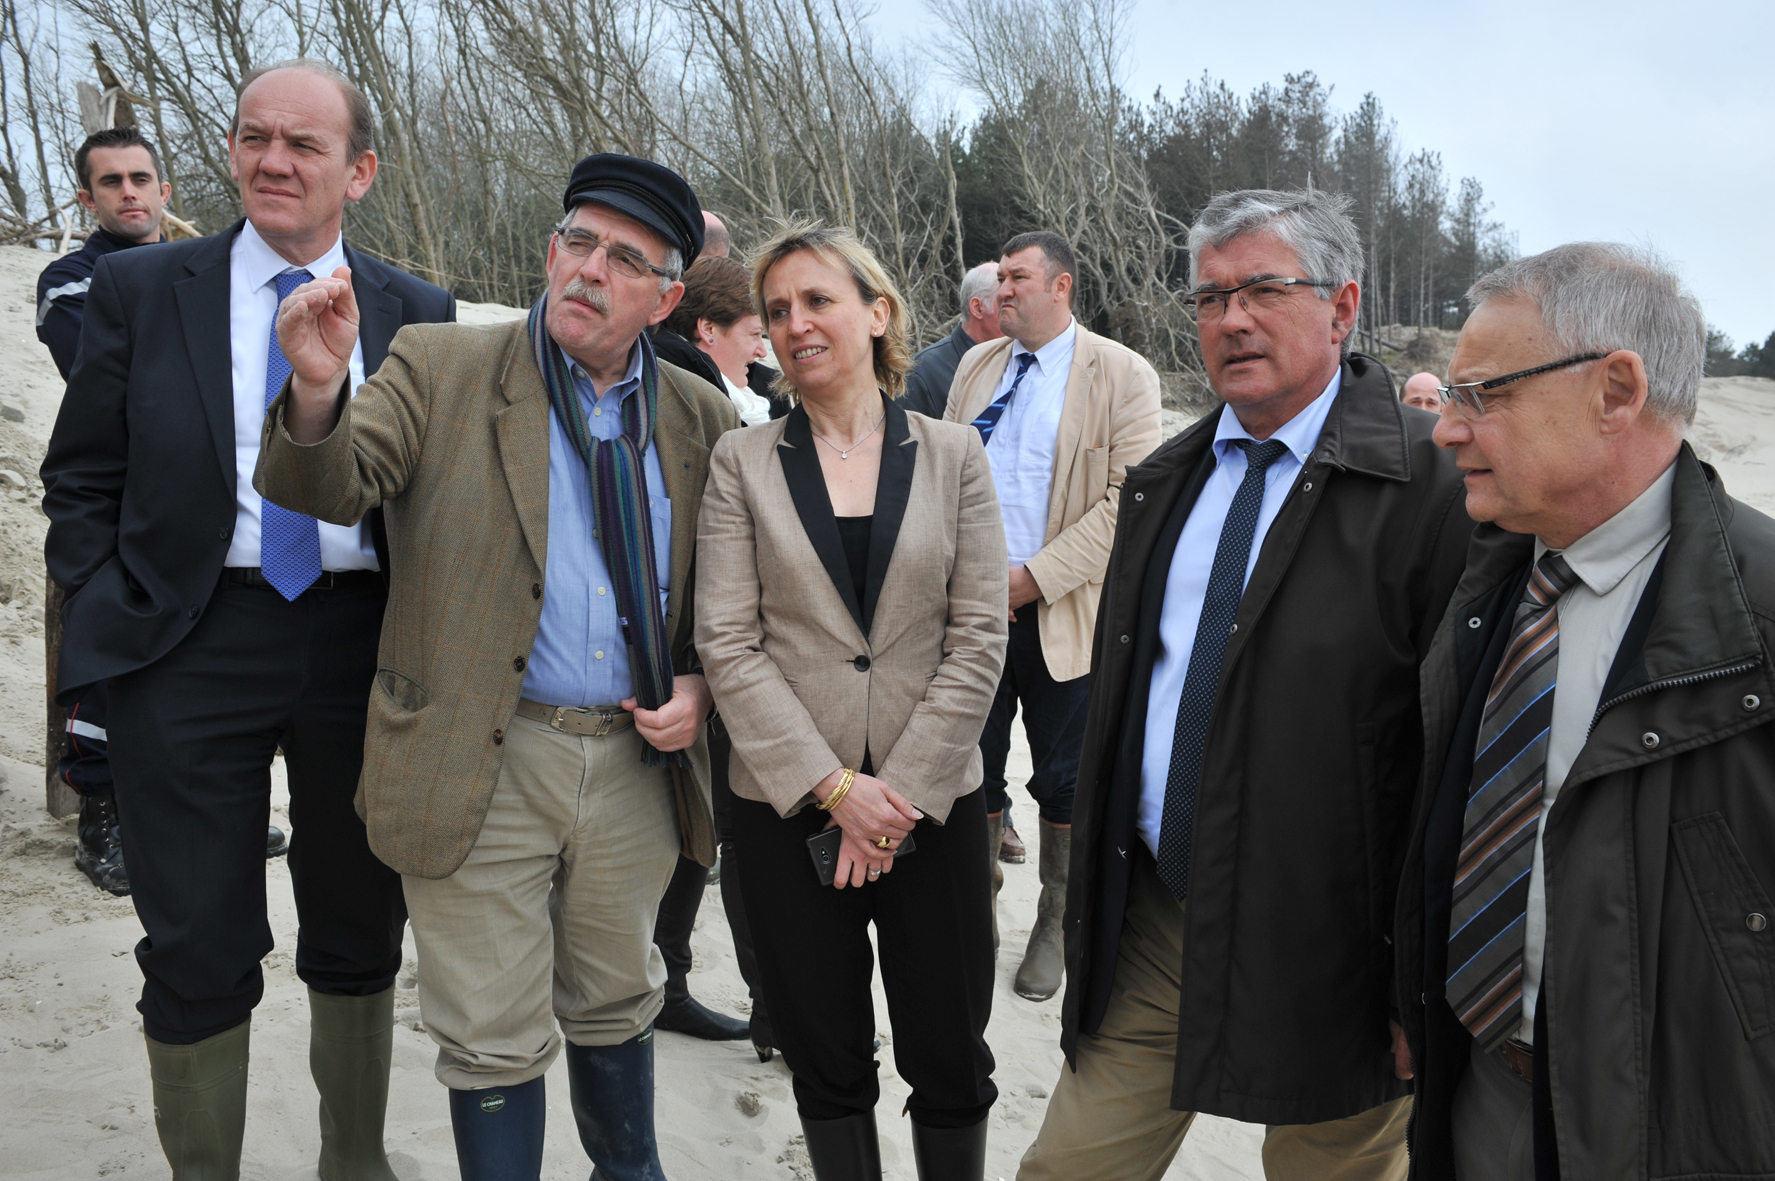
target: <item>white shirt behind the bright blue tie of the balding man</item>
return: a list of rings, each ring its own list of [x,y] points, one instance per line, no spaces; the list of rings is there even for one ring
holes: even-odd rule
[[[291,266],[247,222],[229,250],[227,314],[229,353],[234,382],[234,540],[227,567],[259,565],[259,492],[252,471],[259,465],[259,428],[264,426],[264,366],[272,357],[272,323],[277,320],[277,284],[286,270],[305,270],[325,279],[344,266],[344,238],[307,266]],[[364,384],[364,341],[351,346],[351,396]],[[364,522],[321,526],[321,570],[376,570],[376,547]]]

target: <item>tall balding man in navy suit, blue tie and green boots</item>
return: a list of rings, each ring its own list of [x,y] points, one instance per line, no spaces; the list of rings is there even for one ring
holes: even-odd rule
[[[110,686],[124,858],[146,938],[138,1009],[154,1122],[179,1176],[236,1176],[247,1041],[272,950],[264,826],[279,748],[309,986],[323,1181],[392,1181],[382,1145],[401,881],[351,797],[387,598],[380,520],[321,526],[252,488],[289,364],[279,302],[350,266],[353,378],[454,298],[344,245],[376,174],[373,115],[330,66],[245,76],[229,163],[247,218],[99,259],[82,350],[43,464],[50,575],[67,591],[66,701]]]

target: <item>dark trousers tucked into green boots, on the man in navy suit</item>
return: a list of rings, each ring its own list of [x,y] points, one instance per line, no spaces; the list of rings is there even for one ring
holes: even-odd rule
[[[369,851],[351,806],[376,675],[380,586],[311,590],[222,581],[192,634],[110,682],[110,758],[122,852],[146,936],[142,1026],[190,1044],[245,1021],[272,950],[264,826],[272,758],[289,771],[296,975],[369,996],[401,966],[399,874]]]

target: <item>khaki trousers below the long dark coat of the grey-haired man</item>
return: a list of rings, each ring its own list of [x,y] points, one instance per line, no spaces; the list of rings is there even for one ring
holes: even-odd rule
[[[1182,904],[1140,858],[1129,888],[1109,1009],[1079,1039],[1074,1073],[1060,1067],[1042,1131],[1017,1181],[1159,1181],[1195,1122],[1172,1110],[1177,1005],[1182,991]],[[1324,1124],[1264,1131],[1269,1181],[1404,1181],[1411,1099]]]

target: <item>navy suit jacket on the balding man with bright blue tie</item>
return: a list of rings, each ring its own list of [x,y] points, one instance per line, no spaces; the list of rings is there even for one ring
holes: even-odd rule
[[[234,536],[225,233],[99,259],[80,355],[43,460],[44,559],[67,591],[57,698],[153,664],[202,616]],[[364,373],[456,298],[346,247]],[[382,520],[371,520],[387,579]]]

